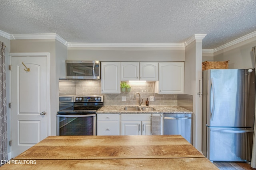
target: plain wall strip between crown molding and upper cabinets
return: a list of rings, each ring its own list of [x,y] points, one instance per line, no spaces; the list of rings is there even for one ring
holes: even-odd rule
[[[68,60],[184,61],[184,47],[171,48],[85,48],[68,47]]]

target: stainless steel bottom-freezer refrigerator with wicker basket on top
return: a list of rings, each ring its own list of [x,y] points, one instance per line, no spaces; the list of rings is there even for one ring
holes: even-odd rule
[[[251,161],[255,69],[202,72],[202,152],[210,161]]]

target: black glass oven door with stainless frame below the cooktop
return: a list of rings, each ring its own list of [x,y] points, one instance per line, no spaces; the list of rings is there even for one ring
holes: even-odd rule
[[[57,114],[57,135],[96,135],[96,114],[60,115]]]

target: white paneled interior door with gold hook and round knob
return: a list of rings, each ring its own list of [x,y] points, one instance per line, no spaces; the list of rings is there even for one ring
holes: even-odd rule
[[[11,55],[11,65],[11,150],[14,158],[48,135],[48,56]]]

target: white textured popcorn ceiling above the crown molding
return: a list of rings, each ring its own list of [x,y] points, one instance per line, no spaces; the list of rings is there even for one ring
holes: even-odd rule
[[[255,0],[2,0],[0,30],[70,43],[184,43],[214,49],[256,31]]]

